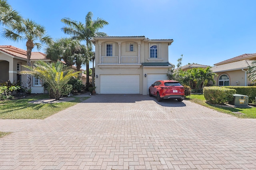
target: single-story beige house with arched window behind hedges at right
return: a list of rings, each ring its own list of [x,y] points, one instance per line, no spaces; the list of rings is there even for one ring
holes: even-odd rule
[[[212,71],[217,73],[215,77],[218,86],[247,86],[252,82],[248,78],[246,71],[252,65],[252,60],[256,60],[256,53],[243,54],[237,57],[221,61],[214,64]]]

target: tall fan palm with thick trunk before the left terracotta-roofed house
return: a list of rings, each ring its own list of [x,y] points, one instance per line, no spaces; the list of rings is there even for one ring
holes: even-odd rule
[[[14,42],[26,41],[28,66],[31,65],[30,57],[34,46],[39,50],[42,47],[41,43],[48,44],[52,42],[50,36],[46,35],[45,28],[30,19],[10,24],[7,28],[4,28],[3,37]],[[30,75],[27,75],[26,85],[27,89],[31,89]]]

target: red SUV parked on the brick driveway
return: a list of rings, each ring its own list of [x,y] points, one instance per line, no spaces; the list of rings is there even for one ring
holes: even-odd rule
[[[149,96],[156,96],[157,101],[162,99],[177,99],[183,101],[184,87],[178,81],[158,80],[148,89]]]

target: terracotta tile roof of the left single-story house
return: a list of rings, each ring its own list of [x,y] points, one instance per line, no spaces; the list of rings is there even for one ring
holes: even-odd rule
[[[27,51],[24,49],[20,49],[17,47],[13,47],[12,45],[0,45],[0,51],[6,52],[14,57],[20,57],[23,59],[27,59]],[[46,58],[46,54],[41,52],[32,52],[30,59],[48,59]]]

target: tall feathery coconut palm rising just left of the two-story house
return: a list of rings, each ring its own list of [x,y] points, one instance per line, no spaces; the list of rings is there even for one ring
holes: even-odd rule
[[[70,34],[76,40],[85,40],[86,46],[90,49],[92,47],[92,42],[90,38],[93,36],[107,36],[104,32],[98,32],[100,28],[108,25],[108,22],[102,18],[97,18],[97,20],[92,20],[92,12],[88,12],[85,17],[85,24],[82,22],[77,22],[70,18],[62,18],[62,22],[67,26],[62,28],[65,34]],[[91,58],[92,56],[90,56]],[[86,85],[89,85],[89,62],[86,63]]]

